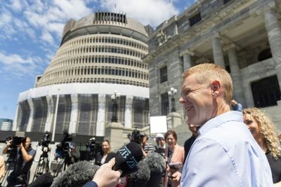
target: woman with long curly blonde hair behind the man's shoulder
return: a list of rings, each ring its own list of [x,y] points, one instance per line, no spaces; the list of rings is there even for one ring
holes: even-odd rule
[[[256,108],[244,109],[243,120],[266,154],[274,186],[281,186],[281,150],[280,142],[275,134],[275,125],[265,113]]]

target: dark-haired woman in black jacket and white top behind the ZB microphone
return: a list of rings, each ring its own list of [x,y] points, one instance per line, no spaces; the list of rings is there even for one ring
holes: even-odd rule
[[[95,165],[103,165],[115,157],[115,153],[111,152],[110,141],[105,139],[102,148],[103,151],[96,154]]]

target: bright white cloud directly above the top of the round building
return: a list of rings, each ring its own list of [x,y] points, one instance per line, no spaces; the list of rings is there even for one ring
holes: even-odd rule
[[[179,13],[174,4],[167,0],[104,0],[101,6],[108,11],[126,13],[143,25],[153,27]]]

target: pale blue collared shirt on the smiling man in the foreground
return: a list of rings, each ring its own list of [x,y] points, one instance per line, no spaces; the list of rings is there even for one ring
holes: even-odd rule
[[[216,116],[199,132],[183,167],[182,187],[273,186],[266,155],[241,112]]]

